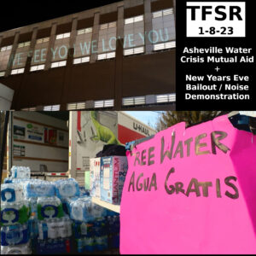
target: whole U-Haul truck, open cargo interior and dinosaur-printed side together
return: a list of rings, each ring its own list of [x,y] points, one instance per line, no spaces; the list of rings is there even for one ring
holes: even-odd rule
[[[74,177],[89,182],[90,158],[106,144],[148,137],[156,131],[124,112],[12,112],[7,140],[7,169],[30,166],[32,177]]]

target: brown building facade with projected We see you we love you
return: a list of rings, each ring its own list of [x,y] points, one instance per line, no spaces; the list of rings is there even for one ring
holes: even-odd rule
[[[175,0],[124,0],[0,32],[12,109],[175,109],[175,14]]]

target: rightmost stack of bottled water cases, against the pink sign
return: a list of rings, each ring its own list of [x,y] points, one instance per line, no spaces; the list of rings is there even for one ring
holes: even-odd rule
[[[70,201],[69,211],[77,253],[119,248],[119,213],[96,205],[90,197]]]

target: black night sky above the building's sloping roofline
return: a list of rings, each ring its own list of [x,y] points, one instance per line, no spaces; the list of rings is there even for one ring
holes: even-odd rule
[[[0,9],[0,32],[116,2],[119,1],[7,0],[4,2],[4,9],[2,7]]]

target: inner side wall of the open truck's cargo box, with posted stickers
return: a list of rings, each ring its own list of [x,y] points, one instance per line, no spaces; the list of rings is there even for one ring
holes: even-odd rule
[[[38,124],[35,124],[34,122]],[[20,127],[20,129],[18,129],[20,133],[14,132],[15,126]],[[55,144],[55,146],[57,147],[54,147],[53,145],[44,142],[45,129],[57,131],[57,140]],[[65,131],[62,131],[62,130],[65,130]],[[23,131],[25,131],[25,135],[22,134]],[[15,112],[13,116],[12,132],[13,132],[13,146],[12,146],[12,157],[13,157],[12,165],[13,166],[30,166],[31,170],[35,172],[40,170],[40,165],[45,165],[47,166],[47,169],[49,172],[67,172],[68,170],[67,121],[64,121],[61,119],[55,119],[53,117],[47,116],[42,113]],[[22,155],[22,156],[17,154],[14,155],[14,148],[15,148],[14,145],[25,147],[25,155]],[[17,152],[19,152],[19,150],[17,150]],[[32,159],[27,159],[27,158],[32,158]]]

